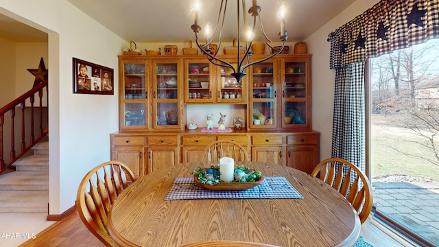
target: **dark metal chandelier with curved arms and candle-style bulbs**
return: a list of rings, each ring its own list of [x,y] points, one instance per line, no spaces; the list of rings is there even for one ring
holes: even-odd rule
[[[226,15],[226,10],[227,10],[227,0],[222,0],[221,1],[221,7],[219,8],[219,13],[218,13],[218,19],[217,19],[217,23],[215,25],[215,29],[213,30],[213,32],[210,32],[209,26],[206,26],[206,42],[204,44],[200,44],[200,39],[198,38],[198,34],[201,31],[201,27],[200,25],[198,25],[198,15],[200,12],[200,5],[198,3],[195,4],[195,21],[193,23],[193,25],[191,25],[191,29],[193,30],[193,32],[195,33],[195,42],[198,46],[198,48],[201,49],[202,52],[204,52],[204,54],[207,55],[207,58],[209,60],[209,62],[211,62],[212,64],[215,64],[217,66],[220,67],[228,67],[230,69],[233,70],[233,73],[231,73],[231,75],[236,78],[237,82],[241,82],[241,78],[244,77],[244,75],[246,75],[246,73],[244,72],[244,70],[253,65],[253,64],[257,64],[259,62],[263,62],[265,60],[269,60],[270,58],[273,58],[274,56],[276,56],[277,54],[281,53],[281,51],[283,50],[283,47],[285,47],[285,41],[287,40],[288,36],[288,32],[285,31],[285,7],[283,5],[283,1],[281,3],[281,10],[279,12],[279,15],[281,17],[281,32],[278,32],[278,36],[282,42],[282,45],[280,47],[276,47],[278,49],[275,49],[271,43],[272,40],[270,40],[270,38],[268,38],[267,34],[265,34],[265,30],[263,29],[263,25],[262,25],[262,21],[261,21],[261,7],[259,5],[257,5],[257,0],[252,0],[252,7],[250,7],[248,9],[248,14],[250,14],[250,16],[252,17],[253,20],[253,25],[252,27],[250,27],[250,25],[248,25],[247,22],[247,18],[246,18],[246,0],[241,0],[241,3],[239,3],[239,0],[237,1],[237,62],[235,62],[235,66],[233,65],[233,63],[227,62],[226,60],[222,60],[221,58],[217,57],[217,53],[219,51],[219,48],[221,47],[221,43],[222,43],[222,34],[223,34],[223,30],[224,30],[224,17]],[[240,11],[242,10],[242,18],[243,18],[243,22],[244,23],[244,28],[246,28],[247,32],[246,32],[246,40],[244,41],[245,45],[243,46],[245,51],[244,53],[241,54],[241,47],[240,47],[240,43],[241,43],[241,27],[240,27]],[[256,28],[256,24],[257,21],[259,20],[259,24],[261,26],[261,32],[263,34],[263,37],[265,38],[265,44],[268,45],[268,47],[270,47],[272,49],[272,51],[274,51],[272,54],[270,54],[270,56],[266,56],[265,58],[262,58],[261,60],[257,60],[254,62],[250,61],[250,57],[252,56],[253,52],[252,52],[252,43],[253,43],[253,37],[254,37],[254,31]],[[210,49],[210,45],[212,43],[212,38],[213,35],[217,32],[219,28],[219,44],[217,45],[217,49],[215,50],[215,52],[213,54],[211,54],[211,49]]]

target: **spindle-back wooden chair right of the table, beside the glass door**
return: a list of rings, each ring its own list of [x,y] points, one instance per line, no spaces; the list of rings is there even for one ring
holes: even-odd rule
[[[373,204],[372,186],[356,165],[342,158],[327,158],[318,163],[311,176],[319,176],[339,191],[357,211],[361,224],[367,220]]]

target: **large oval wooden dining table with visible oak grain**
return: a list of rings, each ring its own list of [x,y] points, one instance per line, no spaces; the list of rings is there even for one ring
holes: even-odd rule
[[[121,246],[181,246],[209,240],[275,246],[353,246],[361,224],[351,204],[332,187],[298,169],[260,162],[244,165],[283,176],[302,199],[165,200],[177,177],[202,163],[159,169],[134,182],[108,213],[108,232]]]

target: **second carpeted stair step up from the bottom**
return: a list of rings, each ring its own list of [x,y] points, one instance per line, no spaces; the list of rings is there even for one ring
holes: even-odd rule
[[[0,176],[0,191],[47,191],[48,189],[48,172],[10,172]]]

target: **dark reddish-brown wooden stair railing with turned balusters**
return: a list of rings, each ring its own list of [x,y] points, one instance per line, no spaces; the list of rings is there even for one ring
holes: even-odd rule
[[[8,169],[36,143],[47,136],[49,128],[47,107],[49,101],[47,100],[46,106],[43,106],[44,93],[46,93],[45,99],[47,100],[47,80],[37,84],[33,89],[0,108],[0,173]],[[34,106],[36,98],[39,99],[38,106]],[[30,106],[26,106],[27,102]],[[16,128],[20,128],[21,133],[20,130],[16,132]],[[35,133],[36,128],[38,130]],[[4,141],[9,137],[10,144],[5,144]],[[20,143],[18,151],[16,150],[16,143]],[[8,153],[5,152],[5,149],[8,150],[9,155],[6,155]]]

